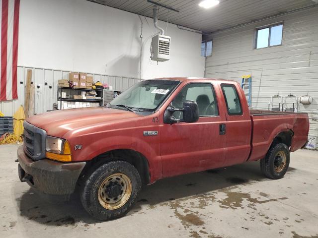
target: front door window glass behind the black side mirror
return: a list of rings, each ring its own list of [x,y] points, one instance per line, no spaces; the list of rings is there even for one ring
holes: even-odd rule
[[[172,106],[182,108],[182,104],[186,100],[192,100],[198,104],[200,117],[219,115],[215,92],[209,83],[186,85],[172,101]],[[173,116],[176,119],[182,119],[181,112],[174,112]]]

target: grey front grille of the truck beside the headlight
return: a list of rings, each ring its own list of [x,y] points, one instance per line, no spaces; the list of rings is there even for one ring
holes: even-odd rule
[[[46,131],[26,121],[24,126],[24,152],[33,160],[40,160],[45,157]]]

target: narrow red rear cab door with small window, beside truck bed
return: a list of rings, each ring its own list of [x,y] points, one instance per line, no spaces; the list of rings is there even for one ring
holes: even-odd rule
[[[247,160],[250,152],[251,119],[245,95],[238,83],[221,83],[226,103],[227,151],[223,166],[231,166]]]

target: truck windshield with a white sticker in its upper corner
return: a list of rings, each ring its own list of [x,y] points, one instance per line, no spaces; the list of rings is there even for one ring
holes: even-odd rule
[[[164,79],[141,81],[113,99],[107,107],[149,115],[178,84],[179,81]]]

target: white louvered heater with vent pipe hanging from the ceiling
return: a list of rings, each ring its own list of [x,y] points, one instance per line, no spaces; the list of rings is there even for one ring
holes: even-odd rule
[[[151,60],[166,61],[170,60],[170,40],[169,36],[164,35],[163,28],[158,26],[158,8],[154,5],[154,25],[161,34],[155,35],[151,42]]]

